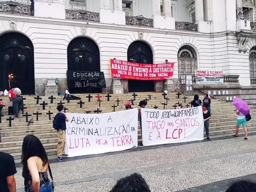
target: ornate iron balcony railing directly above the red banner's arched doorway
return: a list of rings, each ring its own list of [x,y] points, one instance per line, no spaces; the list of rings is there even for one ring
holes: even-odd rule
[[[153,26],[153,19],[148,19],[143,16],[125,16],[125,25],[133,25],[133,26],[140,26],[140,27],[154,27]]]

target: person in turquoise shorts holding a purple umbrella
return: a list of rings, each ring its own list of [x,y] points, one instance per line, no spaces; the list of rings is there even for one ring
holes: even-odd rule
[[[250,113],[249,106],[247,103],[240,99],[240,98],[234,98],[233,99],[233,105],[236,107],[235,112],[237,114],[237,121],[236,121],[236,134],[232,135],[233,138],[238,138],[238,131],[239,131],[239,126],[243,125],[244,128],[244,134],[245,138],[244,140],[248,140],[247,138],[247,129],[246,129],[246,118],[245,116]]]

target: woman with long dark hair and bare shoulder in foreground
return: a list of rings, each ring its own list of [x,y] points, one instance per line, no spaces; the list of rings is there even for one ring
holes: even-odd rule
[[[48,179],[48,157],[41,141],[35,135],[27,135],[22,144],[21,163],[25,192],[52,192]]]

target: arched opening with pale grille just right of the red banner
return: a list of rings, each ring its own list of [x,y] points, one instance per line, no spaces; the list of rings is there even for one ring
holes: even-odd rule
[[[183,45],[178,51],[178,75],[181,84],[182,74],[192,74],[195,77],[197,58],[195,50],[189,45]]]

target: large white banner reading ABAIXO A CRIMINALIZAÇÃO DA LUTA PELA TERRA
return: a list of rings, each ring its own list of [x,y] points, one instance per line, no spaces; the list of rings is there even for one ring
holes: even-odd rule
[[[138,146],[138,109],[113,113],[67,113],[65,153],[69,157]]]

